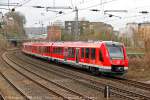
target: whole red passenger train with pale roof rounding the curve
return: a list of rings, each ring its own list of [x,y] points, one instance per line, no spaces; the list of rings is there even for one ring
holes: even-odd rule
[[[87,68],[93,73],[123,75],[128,70],[124,45],[98,42],[26,42],[22,51],[40,58]]]

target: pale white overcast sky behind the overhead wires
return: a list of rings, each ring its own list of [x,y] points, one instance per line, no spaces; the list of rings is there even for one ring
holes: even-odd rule
[[[11,3],[24,3],[26,1],[29,2],[22,7],[16,8],[16,11],[19,11],[26,16],[27,27],[40,26],[39,22],[43,22],[44,26],[46,26],[56,20],[65,21],[75,19],[75,12],[73,12],[73,9],[52,9],[55,11],[63,11],[64,14],[60,15],[55,12],[46,12],[46,9],[31,7],[37,5],[53,7],[54,4],[55,6],[70,6],[73,8],[77,6],[79,9],[79,20],[86,19],[89,21],[101,21],[111,24],[115,29],[125,27],[125,24],[128,22],[150,21],[150,14],[139,13],[140,11],[150,12],[150,0],[55,0],[55,3],[53,0],[9,0]],[[7,2],[7,0],[0,1],[0,3]],[[3,8],[3,6],[0,8]],[[92,12],[90,9],[99,9],[100,11]],[[103,13],[104,10],[127,10],[128,12],[108,12],[109,14],[119,16],[113,16],[110,18],[107,14]],[[4,13],[7,12],[5,10],[1,11]]]

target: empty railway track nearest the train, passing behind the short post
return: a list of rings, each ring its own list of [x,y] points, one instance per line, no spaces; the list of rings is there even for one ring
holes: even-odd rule
[[[108,85],[108,84],[100,83],[100,82],[97,82],[97,81],[93,81],[93,80],[85,78],[85,77],[83,78],[83,77],[78,76],[78,75],[73,75],[73,74],[67,73],[67,72],[65,72],[63,70],[60,71],[58,69],[53,69],[53,71],[52,71],[50,69],[45,68],[46,66],[41,64],[41,63],[38,63],[38,65],[36,65],[35,63],[31,63],[31,62],[28,62],[28,61],[25,61],[25,60],[23,60],[23,61],[27,62],[27,63],[35,66],[35,67],[38,67],[41,70],[47,70],[47,71],[49,71],[51,73],[55,73],[55,74],[58,74],[56,72],[59,72],[59,74],[60,73],[63,73],[63,74],[65,73],[67,76],[64,76],[64,77],[71,78],[71,79],[73,79],[75,81],[79,81],[79,80],[87,81],[88,82],[88,86],[90,86],[90,87],[92,87],[94,89],[97,89],[99,91],[102,91],[102,92],[103,92],[104,88],[100,88],[100,87],[104,87],[105,85]],[[39,67],[39,66],[44,66],[44,68],[43,67]],[[72,76],[72,77],[70,77],[70,76]],[[77,79],[79,79],[79,80],[77,80]],[[83,83],[81,81],[79,81],[79,82]],[[90,84],[89,84],[89,82],[90,82]],[[85,85],[87,85],[87,83]],[[109,85],[109,87],[111,88],[111,94],[112,95],[117,95],[119,97],[123,97],[123,98],[126,98],[126,99],[132,99],[132,100],[134,100],[134,99],[150,100],[150,97],[146,96],[144,94],[139,94],[139,93],[135,93],[134,91],[128,91],[128,90],[120,89],[120,88],[117,88],[117,87],[114,87],[114,86],[111,86],[111,85]]]

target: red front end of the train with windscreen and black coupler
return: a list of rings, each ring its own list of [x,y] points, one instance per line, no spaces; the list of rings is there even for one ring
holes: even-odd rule
[[[107,74],[112,76],[124,75],[128,70],[128,59],[124,45],[119,42],[105,41]],[[110,68],[109,68],[110,67]]]

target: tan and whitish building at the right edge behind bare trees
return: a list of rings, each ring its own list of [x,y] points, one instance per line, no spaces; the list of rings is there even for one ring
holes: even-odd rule
[[[130,43],[134,47],[144,48],[145,43],[150,39],[150,23],[127,23],[126,24],[126,35],[122,37],[127,37],[130,39]]]

